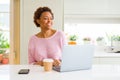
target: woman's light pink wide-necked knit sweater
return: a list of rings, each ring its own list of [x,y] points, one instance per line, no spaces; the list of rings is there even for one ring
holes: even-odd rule
[[[44,58],[61,59],[61,50],[65,43],[65,34],[62,31],[56,31],[49,38],[38,38],[33,35],[28,45],[29,64],[42,61]]]

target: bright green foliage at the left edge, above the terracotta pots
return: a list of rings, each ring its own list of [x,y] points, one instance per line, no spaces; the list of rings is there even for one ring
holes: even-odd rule
[[[8,39],[5,38],[3,33],[0,33],[0,54],[4,53],[6,51],[6,49],[9,47],[10,47],[10,45],[8,43]]]

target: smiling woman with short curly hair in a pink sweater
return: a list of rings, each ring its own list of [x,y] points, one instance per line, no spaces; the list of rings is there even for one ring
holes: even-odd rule
[[[39,7],[34,13],[34,23],[40,32],[29,40],[29,64],[43,65],[43,59],[52,58],[53,65],[60,65],[61,51],[65,44],[62,31],[52,29],[54,15],[50,8]]]

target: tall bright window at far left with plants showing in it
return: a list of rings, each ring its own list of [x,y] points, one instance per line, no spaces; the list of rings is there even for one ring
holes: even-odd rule
[[[8,64],[10,47],[10,1],[0,0],[0,64]]]

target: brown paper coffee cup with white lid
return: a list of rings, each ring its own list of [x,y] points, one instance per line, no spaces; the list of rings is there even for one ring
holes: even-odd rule
[[[44,71],[51,71],[53,66],[53,59],[43,60]]]

